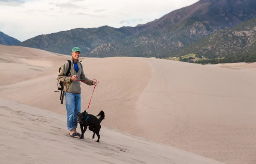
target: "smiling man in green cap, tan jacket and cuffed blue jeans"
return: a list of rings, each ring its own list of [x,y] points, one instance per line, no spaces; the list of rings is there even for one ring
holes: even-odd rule
[[[90,79],[84,75],[83,67],[79,62],[80,53],[81,49],[79,47],[74,47],[72,49],[72,57],[70,58],[70,74],[65,76],[69,64],[68,61],[66,61],[61,66],[58,75],[58,79],[64,83],[63,91],[65,92],[65,104],[67,109],[67,129],[70,130],[69,135],[73,138],[79,138],[81,136],[81,134],[76,131],[76,115],[78,112],[81,112],[81,83],[80,81],[77,81],[78,79],[76,76],[89,86],[96,86],[99,83],[99,81],[90,81]]]

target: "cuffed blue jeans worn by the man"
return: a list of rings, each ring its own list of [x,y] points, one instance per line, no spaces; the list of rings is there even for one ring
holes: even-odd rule
[[[77,128],[77,113],[81,112],[81,94],[65,92],[65,104],[67,109],[67,129]]]

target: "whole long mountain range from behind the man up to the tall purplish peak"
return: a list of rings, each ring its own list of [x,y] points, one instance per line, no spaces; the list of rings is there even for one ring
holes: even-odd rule
[[[166,58],[216,30],[239,25],[254,16],[255,0],[199,0],[136,27],[72,29],[39,35],[19,46],[67,55],[73,46],[80,46],[81,56],[87,57]]]

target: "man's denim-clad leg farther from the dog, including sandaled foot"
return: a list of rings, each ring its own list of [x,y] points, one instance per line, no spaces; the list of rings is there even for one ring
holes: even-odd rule
[[[75,132],[73,116],[75,111],[75,95],[70,92],[65,92],[65,104],[67,110],[67,129],[70,130],[70,135]],[[79,136],[75,136],[79,137]]]

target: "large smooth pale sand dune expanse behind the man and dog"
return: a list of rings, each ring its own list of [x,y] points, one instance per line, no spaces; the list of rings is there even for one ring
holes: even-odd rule
[[[6,48],[0,46],[0,71],[6,76],[0,98],[65,116],[54,90],[58,67],[70,56],[15,46],[10,54]],[[255,63],[230,69],[154,58],[81,60],[87,77],[100,81],[89,113],[105,111],[102,135],[116,137],[102,137],[105,144],[121,142],[121,134],[108,132],[113,128],[227,164],[256,163]],[[82,85],[83,110],[92,91],[93,86]],[[62,133],[67,132],[65,117],[60,119]]]

